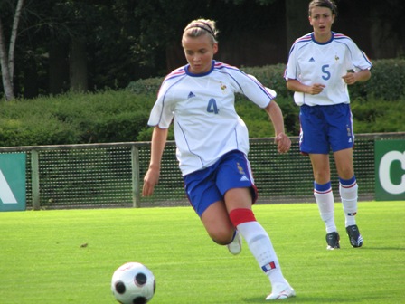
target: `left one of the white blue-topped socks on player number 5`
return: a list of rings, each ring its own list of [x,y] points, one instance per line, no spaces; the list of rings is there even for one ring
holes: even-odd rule
[[[329,182],[324,185],[314,183],[314,196],[321,219],[325,223],[326,233],[337,232],[336,224],[334,223],[334,193],[331,183]]]

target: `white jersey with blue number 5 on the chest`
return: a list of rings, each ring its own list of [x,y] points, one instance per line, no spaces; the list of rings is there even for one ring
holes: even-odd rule
[[[317,95],[295,92],[294,100],[298,106],[350,103],[342,76],[347,71],[371,68],[372,62],[349,37],[332,32],[330,41],[316,43],[314,33],[308,33],[293,43],[284,78],[306,85],[325,84],[324,90]]]

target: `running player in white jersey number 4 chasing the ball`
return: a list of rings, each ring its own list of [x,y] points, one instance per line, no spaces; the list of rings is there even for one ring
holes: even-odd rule
[[[268,112],[278,152],[287,152],[291,141],[284,133],[276,93],[238,68],[213,60],[217,33],[215,22],[206,19],[194,20],[184,29],[188,64],[165,77],[151,111],[148,125],[155,128],[142,194],[153,195],[167,129],[173,122],[185,192],[207,233],[232,254],[241,250],[241,235],[271,283],[266,299],[286,299],[295,296],[295,290],[284,278],[268,233],[251,209],[258,193],[247,158],[248,129],[236,113],[235,94],[244,94]]]

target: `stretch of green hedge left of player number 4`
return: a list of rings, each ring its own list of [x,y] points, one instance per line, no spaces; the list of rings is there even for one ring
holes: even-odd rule
[[[154,99],[129,90],[0,103],[0,147],[137,141]]]

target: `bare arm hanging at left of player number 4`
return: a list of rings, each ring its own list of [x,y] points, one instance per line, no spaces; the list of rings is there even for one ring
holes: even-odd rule
[[[155,126],[152,134],[149,168],[144,177],[143,196],[153,195],[160,176],[160,164],[167,140],[168,128]]]

